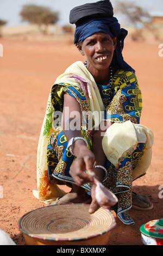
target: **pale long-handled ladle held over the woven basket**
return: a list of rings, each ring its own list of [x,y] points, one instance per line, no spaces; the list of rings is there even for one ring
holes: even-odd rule
[[[94,172],[88,172],[88,174],[93,178],[96,184],[95,197],[97,203],[104,208],[110,208],[110,206],[115,205],[118,202],[115,194],[103,186]]]

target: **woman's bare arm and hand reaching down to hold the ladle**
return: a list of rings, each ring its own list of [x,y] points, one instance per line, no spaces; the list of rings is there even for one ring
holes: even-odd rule
[[[67,138],[67,142],[71,138],[83,137],[81,132],[82,126],[82,110],[80,104],[71,95],[64,94],[64,109],[61,121],[62,130]],[[82,139],[78,139],[74,143],[73,148],[76,160],[73,161],[70,168],[70,174],[74,181],[81,186],[87,182],[92,182],[92,178],[84,173],[84,170],[92,171],[95,162],[95,156],[86,147]]]

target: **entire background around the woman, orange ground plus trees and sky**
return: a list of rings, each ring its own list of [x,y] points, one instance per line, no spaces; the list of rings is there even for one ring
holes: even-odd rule
[[[88,2],[96,1],[0,0],[0,229],[17,245],[26,245],[18,220],[45,206],[33,196],[37,143],[52,84],[70,64],[85,60],[73,45],[69,13]],[[130,209],[132,227],[116,218],[110,245],[142,245],[140,226],[163,212],[163,1],[111,2],[114,16],[128,30],[123,57],[136,70],[141,88],[141,124],[154,132],[151,166],[133,182],[133,190],[146,194],[154,208]]]

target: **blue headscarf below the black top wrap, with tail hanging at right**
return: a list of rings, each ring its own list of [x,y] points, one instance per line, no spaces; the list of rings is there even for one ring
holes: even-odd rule
[[[135,73],[135,70],[123,59],[122,50],[124,46],[124,39],[126,38],[128,31],[121,28],[116,17],[85,17],[85,19],[80,19],[76,23],[74,44],[84,41],[84,39],[96,32],[102,32],[109,34],[110,36],[117,36],[117,46],[114,51],[111,65],[115,68]]]

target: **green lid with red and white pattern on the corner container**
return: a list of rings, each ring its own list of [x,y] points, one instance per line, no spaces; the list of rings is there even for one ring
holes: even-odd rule
[[[144,235],[163,239],[163,218],[143,224],[140,227],[140,231]]]

